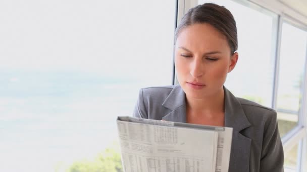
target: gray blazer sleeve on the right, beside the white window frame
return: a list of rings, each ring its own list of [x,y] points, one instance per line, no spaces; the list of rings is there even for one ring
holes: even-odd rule
[[[276,112],[265,125],[261,154],[260,172],[284,171],[284,152],[278,131]]]

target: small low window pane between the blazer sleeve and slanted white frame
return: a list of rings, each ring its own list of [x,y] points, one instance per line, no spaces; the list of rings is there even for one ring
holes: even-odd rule
[[[284,168],[285,172],[295,172],[297,165],[297,150],[298,144],[296,143],[288,152],[285,152]]]

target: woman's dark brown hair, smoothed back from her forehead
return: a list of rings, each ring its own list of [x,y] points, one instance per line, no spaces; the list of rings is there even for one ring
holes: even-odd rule
[[[175,31],[175,44],[180,31],[192,24],[208,23],[226,36],[231,54],[238,49],[236,22],[224,6],[205,3],[191,8],[182,18]]]

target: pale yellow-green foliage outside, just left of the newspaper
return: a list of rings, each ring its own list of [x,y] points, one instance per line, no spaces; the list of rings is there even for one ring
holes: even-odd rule
[[[118,148],[110,147],[99,153],[93,161],[74,162],[69,172],[121,172],[123,171],[121,154]]]

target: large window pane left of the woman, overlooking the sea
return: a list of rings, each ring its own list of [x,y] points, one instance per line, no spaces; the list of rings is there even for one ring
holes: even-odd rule
[[[172,83],[175,7],[1,1],[0,171],[118,168],[116,117]]]

